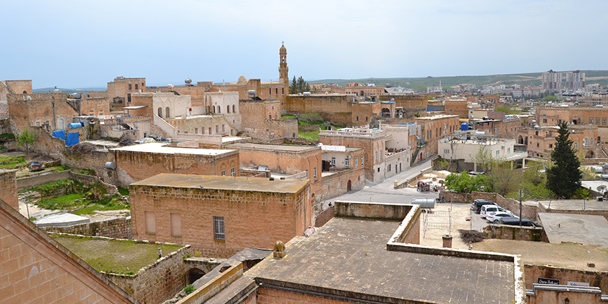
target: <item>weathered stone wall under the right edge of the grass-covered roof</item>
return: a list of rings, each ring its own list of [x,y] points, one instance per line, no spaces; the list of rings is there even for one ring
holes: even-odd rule
[[[162,303],[186,286],[184,256],[190,251],[190,245],[186,245],[143,267],[133,276],[102,274],[141,303]]]

